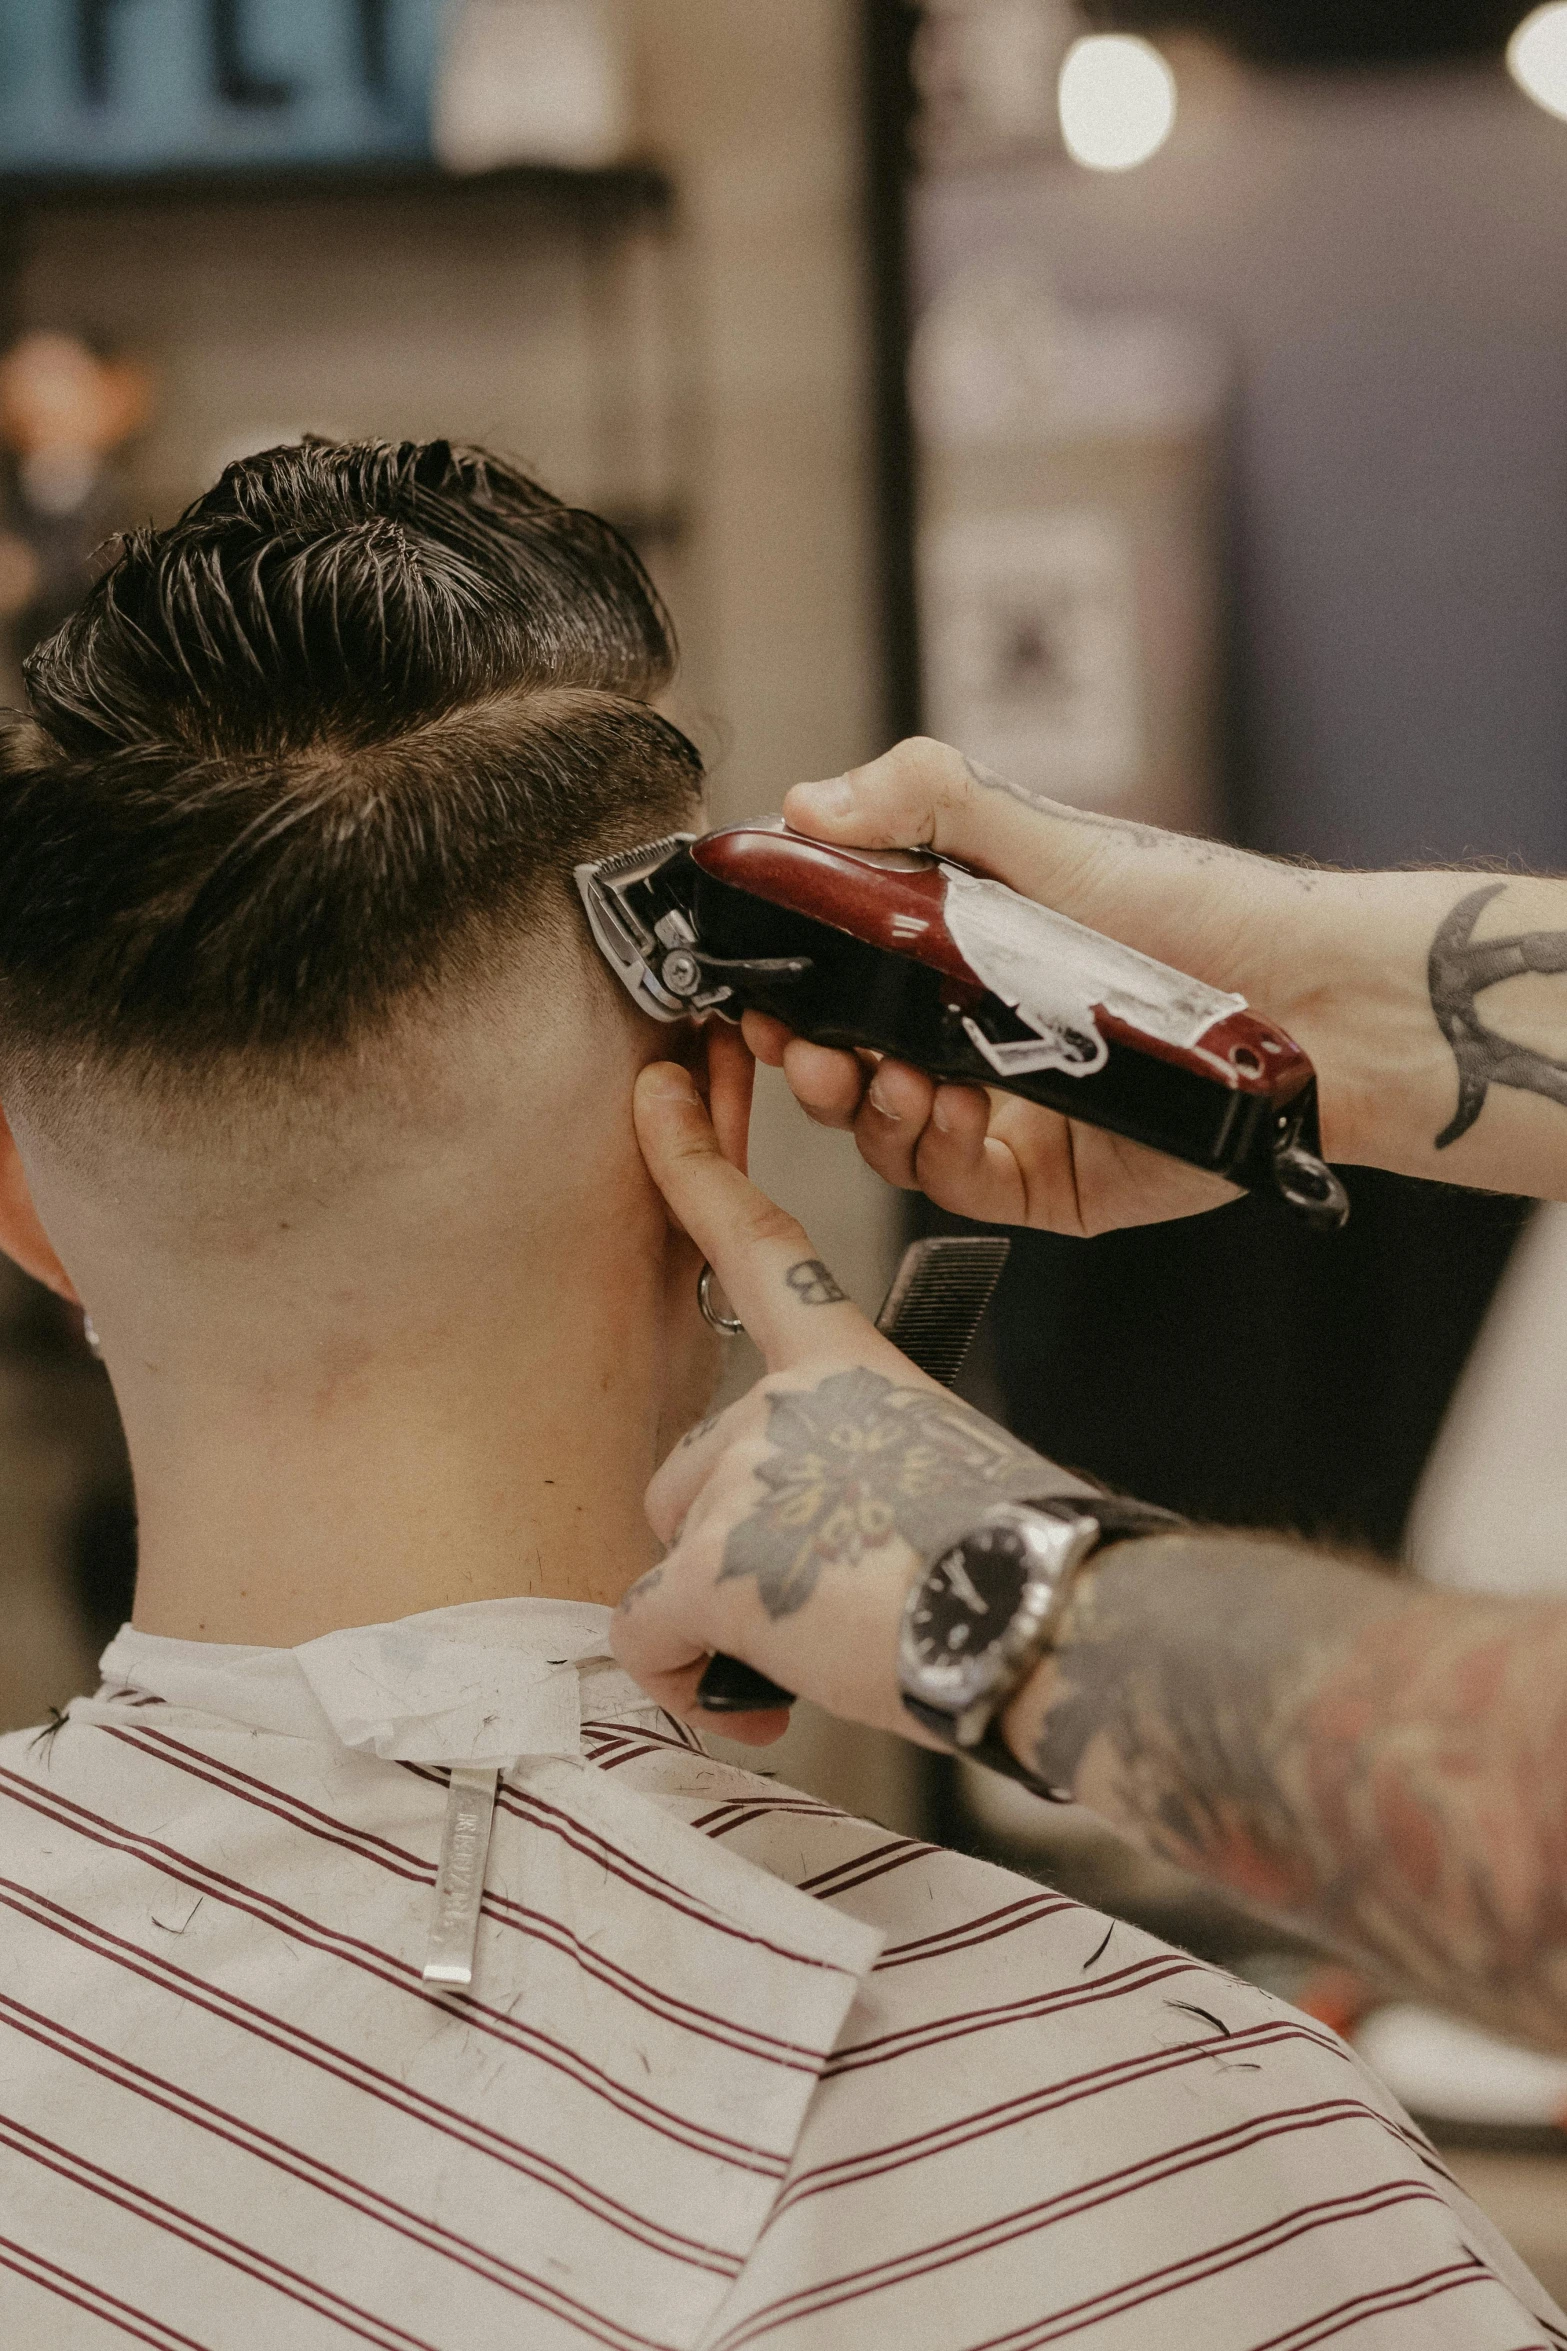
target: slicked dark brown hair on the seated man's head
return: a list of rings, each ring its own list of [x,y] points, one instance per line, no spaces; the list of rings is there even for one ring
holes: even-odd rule
[[[0,1051],[146,1070],[357,1044],[700,759],[627,543],[449,442],[308,440],[125,538],[0,731]]]

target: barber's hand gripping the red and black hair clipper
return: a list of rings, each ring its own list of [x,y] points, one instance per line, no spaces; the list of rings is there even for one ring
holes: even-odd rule
[[[1341,1089],[1332,1084],[1337,1039],[1323,976],[1344,978],[1330,924],[1344,886],[1360,877],[1302,872],[1217,842],[1027,799],[947,743],[923,738],[848,776],[794,785],[785,816],[827,842],[935,849],[1177,971],[1238,990],[1313,1056],[1327,1157],[1356,1157],[1344,1150],[1341,1117],[1334,1131]],[[820,1126],[853,1128],[879,1176],[956,1215],[1090,1234],[1236,1199],[1217,1176],[1015,1093],[937,1086],[907,1063],[806,1044],[761,1013],[747,1013],[745,1037],[759,1060],[782,1067]]]

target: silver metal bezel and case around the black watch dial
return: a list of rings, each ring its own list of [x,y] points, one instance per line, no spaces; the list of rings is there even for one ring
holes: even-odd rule
[[[1024,1587],[1006,1629],[987,1648],[966,1653],[951,1665],[933,1665],[921,1655],[914,1627],[926,1585],[944,1559],[963,1552],[975,1535],[1001,1528],[1015,1533],[1024,1552]],[[897,1629],[897,1683],[904,1700],[940,1714],[951,1726],[956,1747],[973,1747],[996,1714],[996,1707],[1041,1655],[1071,1568],[1099,1540],[1099,1523],[1088,1512],[1045,1512],[1029,1502],[994,1502],[956,1542],[923,1568],[909,1587]]]

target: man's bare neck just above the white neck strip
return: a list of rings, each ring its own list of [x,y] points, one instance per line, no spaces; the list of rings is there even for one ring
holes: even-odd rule
[[[655,1300],[623,1291],[510,1361],[491,1338],[280,1387],[117,1378],[139,1629],[291,1648],[456,1601],[613,1603],[658,1552]]]

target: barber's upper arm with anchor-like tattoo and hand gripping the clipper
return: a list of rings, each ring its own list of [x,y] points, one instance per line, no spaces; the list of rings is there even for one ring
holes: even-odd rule
[[[1567,1199],[1567,882],[1287,865],[1041,804],[919,738],[796,785],[785,813],[832,842],[933,846],[1238,990],[1316,1063],[1327,1159]],[[1104,1232],[1233,1197],[1015,1096],[745,1027],[811,1117],[954,1213]]]

